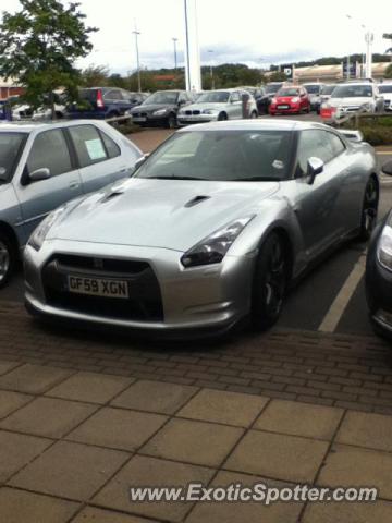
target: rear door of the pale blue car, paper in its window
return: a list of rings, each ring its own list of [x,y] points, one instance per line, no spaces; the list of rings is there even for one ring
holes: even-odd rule
[[[91,193],[132,172],[119,144],[93,124],[68,127],[79,166],[84,193]]]

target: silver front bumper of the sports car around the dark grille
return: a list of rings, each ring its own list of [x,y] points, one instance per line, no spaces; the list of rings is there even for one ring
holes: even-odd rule
[[[79,301],[58,301],[52,299],[45,281],[48,264],[58,255],[115,259],[147,263],[154,272],[160,291],[162,315],[156,318],[133,316],[115,307],[85,306],[84,296]],[[124,245],[102,245],[93,243],[50,241],[45,242],[39,252],[29,245],[24,253],[25,301],[27,308],[35,314],[50,318],[89,323],[159,332],[224,331],[247,316],[250,308],[252,276],[255,254],[225,256],[221,264],[184,269],[180,258],[182,253],[156,247],[132,247]],[[56,264],[54,264],[56,265]],[[61,267],[59,272],[61,272]],[[71,268],[73,276],[81,276],[79,269]],[[85,276],[85,272],[84,272]],[[113,278],[105,271],[95,277]],[[54,275],[54,278],[59,276]],[[123,275],[119,279],[124,279]],[[61,280],[61,275],[60,275]],[[53,281],[53,280],[52,280]],[[133,289],[132,287],[130,289]],[[66,291],[62,288],[61,292]],[[71,293],[68,293],[70,295]],[[77,295],[78,296],[78,295]],[[147,296],[148,297],[148,296]],[[89,303],[90,303],[90,299]],[[125,304],[126,305],[126,304]],[[132,309],[130,305],[130,311]]]

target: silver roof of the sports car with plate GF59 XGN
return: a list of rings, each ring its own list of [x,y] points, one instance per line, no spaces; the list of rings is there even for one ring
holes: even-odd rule
[[[192,133],[194,131],[305,131],[309,129],[331,130],[323,123],[299,120],[233,120],[222,122],[198,123],[182,127],[177,133]]]

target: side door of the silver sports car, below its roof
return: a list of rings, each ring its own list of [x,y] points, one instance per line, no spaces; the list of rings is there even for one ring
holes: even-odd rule
[[[307,162],[311,157],[324,162],[322,172],[316,175],[313,184],[306,174]],[[328,143],[328,132],[313,129],[299,133],[294,211],[309,258],[321,254],[342,235],[344,171],[344,163],[339,156],[334,156]]]

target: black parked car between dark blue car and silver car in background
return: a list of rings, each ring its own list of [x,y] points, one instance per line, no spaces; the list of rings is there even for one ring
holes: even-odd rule
[[[157,90],[142,106],[131,110],[132,121],[142,126],[160,125],[174,129],[177,125],[180,108],[193,101],[193,94],[186,90]]]

